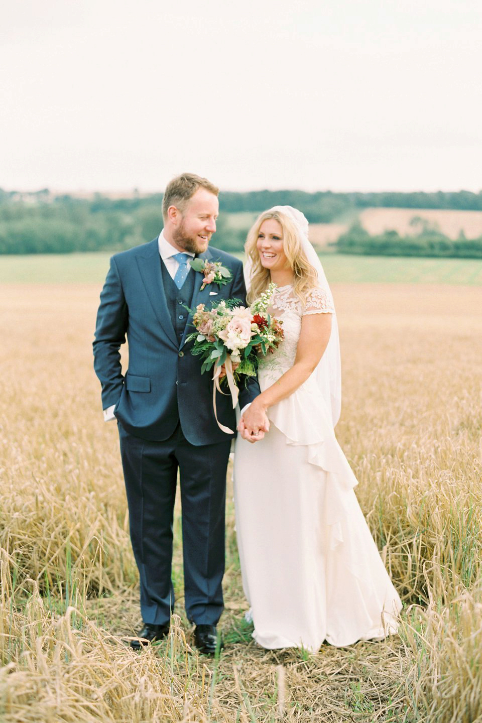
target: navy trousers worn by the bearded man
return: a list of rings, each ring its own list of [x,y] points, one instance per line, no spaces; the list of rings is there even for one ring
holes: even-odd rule
[[[163,442],[142,440],[120,423],[118,427],[142,620],[168,623],[174,606],[173,509],[179,471],[186,615],[197,625],[216,625],[223,612],[225,483],[231,439],[195,447],[185,439],[180,424]]]

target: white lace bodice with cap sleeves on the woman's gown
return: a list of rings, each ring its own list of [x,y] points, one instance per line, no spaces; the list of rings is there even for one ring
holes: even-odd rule
[[[323,288],[310,291],[304,306],[296,296],[293,286],[279,286],[272,296],[270,314],[283,320],[284,338],[272,354],[259,359],[259,385],[265,389],[291,369],[301,333],[301,319],[309,314],[332,314],[333,299]]]

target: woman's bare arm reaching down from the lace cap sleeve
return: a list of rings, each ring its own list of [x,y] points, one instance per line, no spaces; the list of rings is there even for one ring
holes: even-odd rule
[[[289,397],[316,369],[327,348],[332,330],[331,314],[309,314],[301,320],[296,359],[291,369],[264,390],[246,409],[243,421],[250,429],[260,429],[268,408]]]

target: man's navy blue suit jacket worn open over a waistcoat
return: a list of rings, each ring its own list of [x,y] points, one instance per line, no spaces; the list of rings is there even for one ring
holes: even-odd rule
[[[218,249],[208,248],[199,258],[220,261],[231,270],[225,286],[215,283],[200,291],[203,275],[194,273],[191,309],[207,307],[221,299],[245,303],[241,261]],[[168,311],[160,270],[158,239],[111,258],[100,294],[95,329],[94,368],[102,385],[102,405],[116,405],[114,414],[127,432],[145,440],[165,440],[178,421],[186,440],[208,445],[227,438],[216,424],[212,409],[212,373],[201,374],[201,361],[189,353],[186,335],[194,331],[189,316],[179,343]],[[210,296],[216,291],[217,296]],[[129,369],[121,372],[119,348],[129,342]],[[236,429],[231,395],[216,393],[218,419]],[[259,394],[257,380],[240,385],[241,408]]]

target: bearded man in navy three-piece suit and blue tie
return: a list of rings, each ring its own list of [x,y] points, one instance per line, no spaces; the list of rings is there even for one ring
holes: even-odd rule
[[[220,645],[223,612],[225,478],[231,437],[216,423],[212,380],[201,374],[186,335],[185,307],[221,299],[244,303],[241,261],[208,244],[216,230],[218,188],[194,174],[173,179],[163,197],[164,228],[150,243],[111,258],[100,294],[94,367],[105,419],[117,419],[134,557],[139,568],[144,626],[140,649],[168,634],[174,606],[171,582],[173,508],[179,473],[182,504],[184,598],[197,647]],[[220,261],[231,277],[201,291],[204,275],[189,260]],[[119,348],[129,341],[123,377]],[[236,429],[231,395],[217,394],[218,419]],[[243,408],[259,394],[256,380],[241,385]],[[248,429],[257,432],[257,429]],[[262,437],[254,435],[253,439]]]

